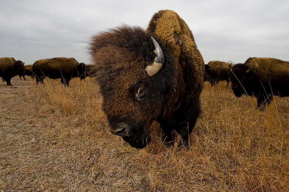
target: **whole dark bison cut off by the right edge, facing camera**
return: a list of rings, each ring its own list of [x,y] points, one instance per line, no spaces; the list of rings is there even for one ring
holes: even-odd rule
[[[289,62],[274,58],[250,57],[231,69],[232,90],[237,97],[255,96],[263,109],[273,95],[289,96]]]

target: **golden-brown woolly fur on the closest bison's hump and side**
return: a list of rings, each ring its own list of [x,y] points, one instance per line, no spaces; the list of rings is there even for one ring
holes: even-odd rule
[[[172,10],[161,10],[154,14],[147,31],[160,36],[171,49],[176,67],[182,70],[179,81],[185,81],[189,97],[198,97],[203,89],[204,61],[186,22]]]

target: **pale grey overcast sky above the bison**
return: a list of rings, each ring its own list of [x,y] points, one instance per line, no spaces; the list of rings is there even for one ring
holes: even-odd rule
[[[162,9],[186,21],[205,63],[248,57],[289,61],[288,0],[0,0],[0,57],[25,64],[52,57],[90,63],[86,46],[93,34],[121,23],[146,28]]]

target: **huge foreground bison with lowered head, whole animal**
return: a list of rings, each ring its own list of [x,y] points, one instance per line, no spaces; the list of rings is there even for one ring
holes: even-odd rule
[[[113,134],[144,148],[157,120],[167,145],[173,143],[172,130],[188,145],[201,111],[204,61],[177,13],[155,13],[146,31],[123,25],[99,33],[89,49]]]

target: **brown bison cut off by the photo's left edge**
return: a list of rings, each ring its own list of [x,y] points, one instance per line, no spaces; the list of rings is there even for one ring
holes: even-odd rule
[[[7,82],[7,85],[12,85],[10,82],[12,77],[23,74],[25,74],[24,62],[16,61],[13,57],[0,58],[0,77],[2,81]]]

